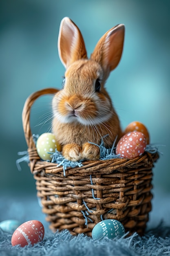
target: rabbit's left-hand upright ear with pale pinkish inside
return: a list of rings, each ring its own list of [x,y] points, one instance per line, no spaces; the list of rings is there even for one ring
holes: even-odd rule
[[[68,17],[62,19],[58,36],[58,52],[64,67],[87,58],[84,40],[79,28]]]

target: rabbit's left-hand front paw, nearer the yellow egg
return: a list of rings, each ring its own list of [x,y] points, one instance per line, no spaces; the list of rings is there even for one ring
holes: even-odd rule
[[[76,162],[82,159],[81,148],[75,144],[66,144],[62,149],[63,156],[70,161]]]

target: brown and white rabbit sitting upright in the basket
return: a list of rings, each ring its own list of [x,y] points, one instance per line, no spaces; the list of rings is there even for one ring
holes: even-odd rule
[[[53,133],[68,160],[99,159],[97,145],[103,140],[109,148],[122,135],[104,84],[120,61],[123,45],[121,24],[102,36],[88,59],[78,27],[68,17],[61,21],[58,51],[66,72],[62,90],[53,97]]]

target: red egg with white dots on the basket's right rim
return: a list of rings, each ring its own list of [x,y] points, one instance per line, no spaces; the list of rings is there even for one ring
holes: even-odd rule
[[[118,141],[116,155],[131,159],[141,156],[146,149],[146,137],[142,132],[128,132]]]

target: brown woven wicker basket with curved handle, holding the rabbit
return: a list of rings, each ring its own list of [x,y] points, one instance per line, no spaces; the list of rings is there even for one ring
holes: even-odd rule
[[[129,234],[144,234],[151,210],[152,167],[159,155],[145,152],[135,159],[86,161],[82,167],[56,167],[37,154],[30,130],[30,111],[48,88],[33,93],[25,102],[22,121],[29,152],[29,166],[36,180],[42,211],[53,231],[68,229],[91,236],[95,224],[117,219]]]

